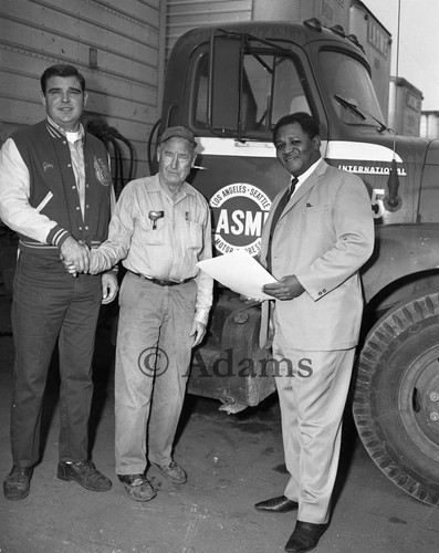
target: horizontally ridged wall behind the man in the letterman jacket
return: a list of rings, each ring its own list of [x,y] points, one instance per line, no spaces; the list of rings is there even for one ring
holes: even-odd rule
[[[133,143],[135,173],[145,175],[161,94],[163,28],[160,0],[2,0],[0,122],[40,121],[41,73],[71,63],[85,76],[87,113],[103,116]]]

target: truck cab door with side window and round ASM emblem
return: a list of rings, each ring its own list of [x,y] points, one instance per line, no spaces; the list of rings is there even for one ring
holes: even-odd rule
[[[271,201],[289,179],[275,158],[272,128],[282,115],[311,113],[314,105],[292,50],[215,40],[212,54],[205,49],[192,66],[189,118],[203,167],[192,184],[210,202],[216,253],[255,255]]]

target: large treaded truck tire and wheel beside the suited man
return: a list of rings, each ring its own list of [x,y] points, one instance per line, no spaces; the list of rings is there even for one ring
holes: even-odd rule
[[[379,469],[401,490],[439,504],[439,294],[394,306],[366,337],[354,418]]]

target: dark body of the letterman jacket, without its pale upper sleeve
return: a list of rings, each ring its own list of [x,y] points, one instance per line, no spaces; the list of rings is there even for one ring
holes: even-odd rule
[[[20,237],[20,250],[58,257],[69,236],[91,248],[103,242],[111,217],[112,187],[104,144],[85,133],[83,216],[66,137],[51,122],[42,121],[15,131],[11,139],[29,170],[30,206],[54,221],[45,241],[23,234],[20,228],[13,229]],[[2,215],[8,223],[7,209]]]

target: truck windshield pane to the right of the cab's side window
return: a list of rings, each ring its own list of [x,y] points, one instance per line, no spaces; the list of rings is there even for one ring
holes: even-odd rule
[[[348,125],[373,125],[384,117],[366,67],[354,58],[322,51],[325,88],[338,117]]]

